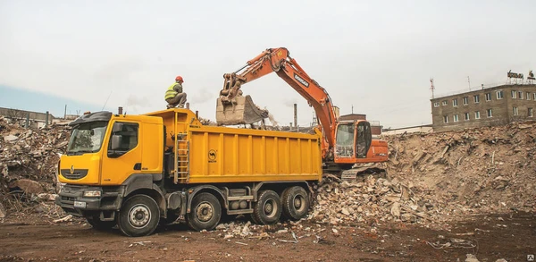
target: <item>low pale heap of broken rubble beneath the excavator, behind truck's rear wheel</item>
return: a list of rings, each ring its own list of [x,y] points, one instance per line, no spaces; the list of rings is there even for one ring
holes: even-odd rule
[[[359,182],[324,178],[316,190],[316,204],[309,219],[325,224],[363,224],[370,221],[440,221],[440,211],[430,199],[417,196],[398,178],[383,174],[361,177]]]

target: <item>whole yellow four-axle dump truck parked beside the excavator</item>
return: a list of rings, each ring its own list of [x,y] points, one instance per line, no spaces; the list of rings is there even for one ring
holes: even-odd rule
[[[322,134],[202,125],[188,109],[97,112],[70,123],[55,202],[97,229],[144,236],[185,221],[211,230],[222,214],[258,224],[297,220],[322,180]]]

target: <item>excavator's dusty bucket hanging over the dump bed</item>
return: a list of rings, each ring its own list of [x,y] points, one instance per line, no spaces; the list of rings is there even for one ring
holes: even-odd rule
[[[257,123],[268,117],[268,112],[255,106],[250,96],[234,97],[230,103],[223,103],[222,98],[218,98],[216,103],[218,125]]]

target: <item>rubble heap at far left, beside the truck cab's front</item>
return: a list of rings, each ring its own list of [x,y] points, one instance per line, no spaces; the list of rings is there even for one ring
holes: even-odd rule
[[[51,199],[69,132],[63,125],[25,129],[0,115],[0,195],[23,193]]]

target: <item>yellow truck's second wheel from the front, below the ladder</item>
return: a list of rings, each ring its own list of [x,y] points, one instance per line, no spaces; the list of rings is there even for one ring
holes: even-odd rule
[[[212,230],[220,223],[222,206],[211,193],[199,193],[192,199],[191,212],[187,215],[188,226],[196,231]]]

